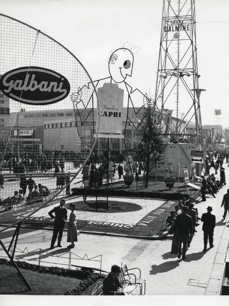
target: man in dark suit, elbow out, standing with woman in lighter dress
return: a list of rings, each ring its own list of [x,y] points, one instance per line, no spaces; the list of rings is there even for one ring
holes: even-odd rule
[[[52,240],[51,240],[51,246],[50,249],[54,248],[54,244],[56,241],[56,238],[58,237],[58,247],[62,247],[61,240],[63,236],[63,230],[65,227],[65,222],[67,221],[67,209],[63,207],[65,204],[65,200],[61,200],[60,206],[56,206],[53,209],[51,209],[48,213],[48,215],[54,219],[54,227],[53,227],[53,233],[52,233]],[[55,216],[52,214],[55,213]]]

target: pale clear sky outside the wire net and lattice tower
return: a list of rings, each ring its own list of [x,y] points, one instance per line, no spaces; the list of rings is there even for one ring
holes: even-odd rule
[[[184,2],[184,0],[183,0]],[[163,0],[0,0],[0,12],[41,30],[71,51],[93,80],[109,76],[108,59],[134,51],[132,85],[154,98]],[[196,0],[196,43],[203,125],[229,127],[228,0]],[[182,103],[180,104],[182,111]],[[214,110],[221,109],[218,121]]]

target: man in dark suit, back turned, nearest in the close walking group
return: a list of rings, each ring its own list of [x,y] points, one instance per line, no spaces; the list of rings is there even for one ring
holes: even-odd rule
[[[182,214],[177,216],[177,220],[175,221],[175,226],[179,228],[179,253],[178,258],[181,258],[181,244],[183,243],[183,251],[182,251],[182,258],[186,258],[186,251],[187,251],[187,244],[189,235],[193,236],[193,229],[192,229],[192,218],[187,215],[188,207],[184,206],[182,208]]]

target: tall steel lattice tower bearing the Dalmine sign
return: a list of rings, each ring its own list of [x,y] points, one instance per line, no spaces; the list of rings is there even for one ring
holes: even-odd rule
[[[194,0],[163,1],[155,105],[168,138],[184,138],[187,125],[194,122],[196,149],[201,150],[203,89],[198,84],[195,25]]]

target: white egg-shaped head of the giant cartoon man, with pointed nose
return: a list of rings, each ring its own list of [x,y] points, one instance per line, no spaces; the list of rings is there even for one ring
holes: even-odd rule
[[[109,59],[109,73],[113,81],[121,83],[127,76],[132,75],[133,54],[130,50],[122,48],[113,52]]]

